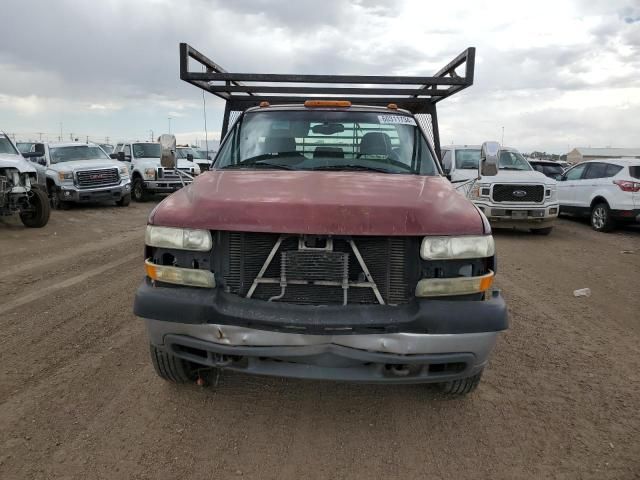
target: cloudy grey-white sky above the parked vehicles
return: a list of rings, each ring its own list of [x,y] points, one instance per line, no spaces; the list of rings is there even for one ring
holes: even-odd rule
[[[178,43],[228,71],[430,75],[477,48],[439,104],[442,143],[640,147],[640,0],[3,0],[0,129],[56,140],[204,138]],[[223,103],[208,95],[211,137]],[[171,120],[169,121],[169,117]]]

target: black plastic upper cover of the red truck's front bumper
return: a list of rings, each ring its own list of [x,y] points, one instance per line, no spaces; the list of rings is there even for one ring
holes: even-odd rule
[[[154,287],[145,279],[136,292],[134,313],[165,322],[313,335],[481,333],[509,326],[507,308],[498,291],[486,301],[420,299],[400,306],[309,306],[251,300],[220,289]]]

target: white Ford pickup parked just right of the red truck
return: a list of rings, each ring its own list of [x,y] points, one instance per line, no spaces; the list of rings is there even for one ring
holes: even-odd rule
[[[494,227],[551,233],[559,210],[556,181],[534,170],[516,149],[501,148],[498,174],[491,177],[478,173],[480,145],[447,145],[441,151],[451,182],[470,187],[465,193]]]

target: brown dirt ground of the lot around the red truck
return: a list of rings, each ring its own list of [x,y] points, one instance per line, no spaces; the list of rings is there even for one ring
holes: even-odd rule
[[[0,478],[640,478],[640,229],[496,234],[478,390],[157,378],[132,314],[153,203],[0,220]],[[575,298],[589,287],[592,296]]]

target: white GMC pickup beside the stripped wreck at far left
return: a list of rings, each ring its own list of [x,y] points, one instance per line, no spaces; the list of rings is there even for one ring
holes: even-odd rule
[[[35,143],[30,159],[46,181],[55,209],[72,203],[131,202],[131,180],[126,166],[113,160],[94,143]]]

